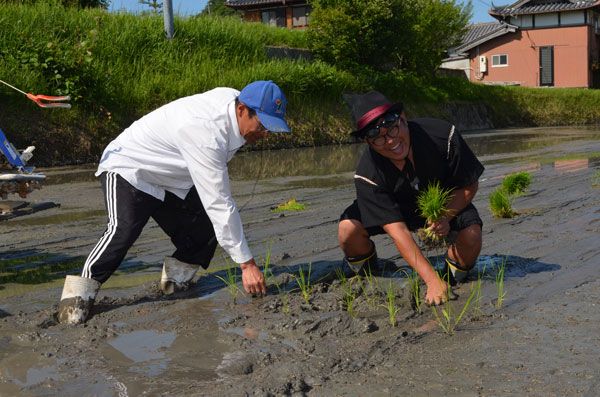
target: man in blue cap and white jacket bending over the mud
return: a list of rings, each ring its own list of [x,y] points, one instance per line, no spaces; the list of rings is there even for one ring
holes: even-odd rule
[[[67,276],[59,321],[86,320],[100,286],[152,217],[175,245],[160,280],[165,294],[187,289],[217,242],[242,269],[250,294],[266,294],[229,186],[227,163],[246,142],[290,133],[286,99],[272,81],[215,88],[164,105],[134,122],[104,150],[100,178],[108,226],[81,276]]]

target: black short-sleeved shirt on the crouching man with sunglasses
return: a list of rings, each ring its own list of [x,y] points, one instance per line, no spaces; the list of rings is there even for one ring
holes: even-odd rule
[[[443,188],[460,189],[483,173],[483,165],[452,124],[427,118],[409,121],[408,128],[416,178],[370,147],[358,163],[354,181],[365,228],[394,222],[409,227],[419,222],[422,227],[424,219],[417,215],[416,205],[419,189],[435,182]]]

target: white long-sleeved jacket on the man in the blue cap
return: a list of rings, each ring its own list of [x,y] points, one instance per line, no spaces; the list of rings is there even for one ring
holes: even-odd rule
[[[246,143],[235,115],[239,91],[215,88],[168,103],[121,133],[104,150],[96,176],[121,175],[159,200],[185,198],[196,186],[217,241],[236,263],[252,259],[231,196],[227,163]]]

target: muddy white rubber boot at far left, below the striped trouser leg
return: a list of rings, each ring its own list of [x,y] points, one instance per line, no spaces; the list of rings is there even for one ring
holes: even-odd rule
[[[58,321],[65,324],[85,322],[101,285],[91,278],[67,276],[58,307]]]

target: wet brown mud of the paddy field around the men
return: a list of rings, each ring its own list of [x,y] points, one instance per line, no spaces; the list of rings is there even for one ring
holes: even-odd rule
[[[0,395],[596,396],[598,134],[528,130],[467,136],[486,166],[475,200],[484,221],[477,264],[483,277],[480,299],[471,300],[451,334],[431,308],[415,310],[407,279],[398,271],[408,270],[405,262],[383,236],[374,240],[385,269],[370,281],[363,277],[362,288],[346,273],[344,289],[335,272],[341,259],[336,224],[354,198],[351,170],[267,173],[258,183],[232,182],[261,263],[271,247],[274,277],[267,297],[238,293],[234,299],[214,273],[199,274],[189,291],[163,296],[160,263],[172,248],[151,222],[122,265],[135,271],[103,286],[86,324],[57,323],[62,279],[3,286]],[[251,159],[242,156],[258,162]],[[518,215],[494,218],[490,193],[504,175],[521,170],[532,172],[533,182],[513,202]],[[29,198],[61,207],[1,223],[0,259],[85,256],[105,226],[99,183],[91,173],[47,170],[49,182],[64,182],[49,183]],[[270,211],[291,198],[308,209]],[[440,254],[428,253],[434,263]],[[494,278],[502,263],[505,295],[499,307]],[[209,270],[225,276],[224,266],[219,251]],[[309,269],[305,299],[296,279]],[[476,278],[455,288],[454,318]],[[355,299],[344,299],[348,296]],[[438,308],[438,316],[452,308]]]

